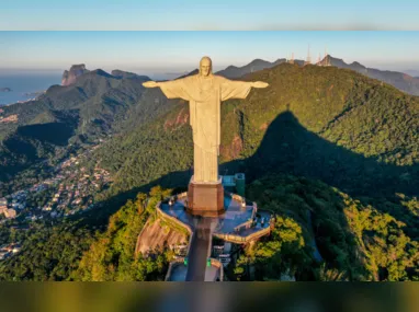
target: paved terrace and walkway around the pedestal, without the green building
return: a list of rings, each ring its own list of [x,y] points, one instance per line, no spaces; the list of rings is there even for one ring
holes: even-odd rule
[[[169,200],[171,201],[169,205]],[[267,235],[270,231],[271,213],[258,211],[254,203],[225,192],[225,213],[219,217],[192,216],[185,209],[186,193],[179,194],[171,199],[159,203],[159,210],[181,223],[186,224],[193,232],[188,254],[189,264],[183,258],[170,264],[166,280],[171,281],[215,281],[223,280],[223,265],[212,259],[206,266],[211,255],[212,238],[218,236],[225,241],[245,244],[251,240]]]

